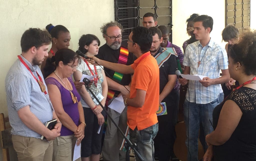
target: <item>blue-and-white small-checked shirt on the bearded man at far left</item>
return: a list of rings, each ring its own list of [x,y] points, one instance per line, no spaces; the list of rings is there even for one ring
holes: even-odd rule
[[[31,65],[22,55],[20,57],[38,78],[36,71],[43,78],[40,68]],[[45,81],[43,79],[45,84]],[[17,59],[5,78],[5,91],[12,134],[25,137],[41,138],[41,135],[29,129],[19,118],[18,110],[29,105],[30,111],[43,123],[52,119],[52,106],[49,95],[43,93],[31,73]],[[48,93],[47,87],[46,91]],[[32,121],[32,120],[31,120]]]

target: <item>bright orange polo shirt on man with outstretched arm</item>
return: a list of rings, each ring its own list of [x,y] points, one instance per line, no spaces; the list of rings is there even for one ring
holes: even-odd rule
[[[149,53],[149,54],[148,54]],[[143,130],[156,124],[156,111],[159,108],[159,68],[156,59],[146,52],[138,57],[131,67],[134,74],[131,82],[130,98],[136,96],[137,89],[146,91],[144,105],[141,108],[127,107],[127,124],[134,130]]]

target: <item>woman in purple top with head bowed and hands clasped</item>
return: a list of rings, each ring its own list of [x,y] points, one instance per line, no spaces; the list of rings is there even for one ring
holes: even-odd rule
[[[46,60],[45,83],[49,96],[62,124],[60,136],[54,140],[53,161],[73,159],[74,146],[84,138],[84,113],[71,75],[80,63],[79,56],[68,48],[60,49]],[[81,160],[81,158],[77,159]]]

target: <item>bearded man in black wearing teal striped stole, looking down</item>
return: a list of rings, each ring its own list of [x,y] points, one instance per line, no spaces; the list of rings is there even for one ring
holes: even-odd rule
[[[153,35],[150,53],[157,60],[159,67],[159,104],[166,103],[167,114],[158,115],[158,133],[154,140],[155,157],[159,160],[169,160],[174,154],[173,145],[176,139],[175,125],[178,117],[179,89],[175,88],[177,76],[177,53],[174,48],[162,48],[163,41],[160,29],[149,28]]]

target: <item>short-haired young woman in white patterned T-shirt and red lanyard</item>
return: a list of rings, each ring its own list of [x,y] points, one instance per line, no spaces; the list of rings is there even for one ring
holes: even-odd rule
[[[79,39],[79,50],[87,55],[94,56],[98,54],[100,40],[95,35],[87,34],[82,35]],[[86,59],[81,57],[81,64],[78,65],[77,71],[74,72],[74,79],[80,80],[82,75],[92,75],[93,84],[90,89],[98,97],[101,104],[104,106],[107,93],[108,84],[106,82],[106,76],[103,69],[100,66],[95,66],[86,61]],[[81,157],[82,161],[99,161],[101,153],[101,138],[104,123],[104,111],[92,96],[92,94],[87,91],[85,86],[79,90],[81,96],[81,102],[84,110],[84,117],[86,119],[87,127],[85,128],[85,137],[82,140],[81,145]]]

